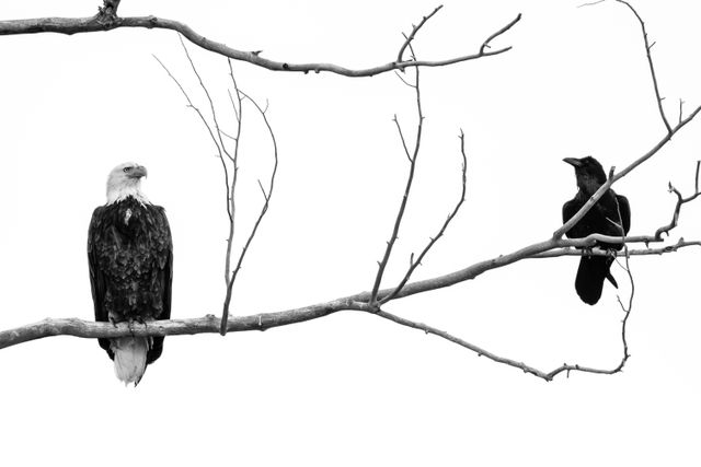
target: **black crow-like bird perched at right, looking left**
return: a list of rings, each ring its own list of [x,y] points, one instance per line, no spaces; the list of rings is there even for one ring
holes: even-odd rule
[[[577,194],[562,207],[562,221],[567,222],[588,201],[588,199],[606,183],[606,173],[599,162],[591,157],[563,159],[574,166],[577,178]],[[621,232],[623,229],[623,232]],[[628,198],[608,189],[586,214],[567,232],[570,238],[582,238],[593,233],[610,236],[622,236],[631,229],[631,208]],[[622,244],[597,243],[605,249],[621,249]],[[608,279],[618,289],[610,268],[613,256],[582,255],[574,288],[583,302],[596,304],[601,297],[604,280]]]

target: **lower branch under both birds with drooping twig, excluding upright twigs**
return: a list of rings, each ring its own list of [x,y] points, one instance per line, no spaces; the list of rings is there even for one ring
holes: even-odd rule
[[[269,191],[268,191],[269,192]],[[517,252],[514,252],[508,255],[499,255],[498,257],[476,262],[466,269],[448,273],[445,276],[439,276],[433,279],[427,279],[423,281],[417,281],[413,283],[406,284],[399,292],[397,288],[380,290],[377,293],[376,300],[383,300],[390,294],[397,294],[395,297],[403,297],[413,295],[416,293],[427,292],[430,290],[437,290],[445,287],[452,285],[458,282],[462,282],[469,279],[474,279],[482,272],[485,272],[490,269],[499,268],[513,262],[516,262],[520,259],[526,258],[538,258],[545,257],[548,253],[550,253],[549,257],[552,256],[564,256],[564,255],[581,255],[581,252],[574,252],[572,249],[563,249],[564,247],[571,246],[583,246],[585,244],[593,245],[595,242],[605,238],[607,242],[611,243],[611,241],[620,240],[619,237],[607,237],[599,234],[589,235],[586,238],[573,238],[573,240],[553,240],[550,238],[545,242],[537,243],[533,245],[529,245],[525,248],[521,248]],[[644,242],[645,240],[655,241],[654,237],[625,237],[623,241],[625,243],[632,242]],[[659,249],[647,249],[647,250],[630,250],[627,253],[628,256],[632,256],[635,254],[666,254],[676,252],[679,247],[683,246],[701,246],[701,242],[683,242],[680,240],[676,245],[671,245],[665,248]],[[597,254],[606,254],[605,252],[597,252],[596,249],[591,252],[593,255]],[[628,265],[628,260],[627,260]],[[630,267],[627,267],[630,276]],[[631,277],[632,280],[632,277]],[[633,285],[634,287],[634,285]],[[632,296],[631,296],[632,301]],[[541,370],[535,369],[530,365],[527,365],[522,362],[518,362],[512,359],[498,357],[492,352],[489,352],[475,345],[464,341],[463,339],[457,338],[448,332],[441,331],[434,327],[414,323],[405,318],[401,318],[399,316],[391,315],[384,311],[378,310],[377,302],[371,301],[371,292],[361,292],[352,296],[346,296],[342,299],[336,299],[326,303],[320,303],[315,305],[309,305],[300,308],[288,310],[284,312],[276,313],[263,313],[263,314],[254,314],[249,316],[239,316],[231,317],[227,324],[227,331],[245,331],[245,330],[265,330],[272,327],[286,326],[296,323],[302,323],[310,319],[317,319],[330,314],[341,312],[341,311],[363,311],[372,314],[377,314],[386,319],[393,320],[403,326],[413,327],[416,329],[422,329],[425,332],[434,334],[436,336],[448,339],[452,342],[456,342],[462,347],[466,347],[478,354],[485,355],[489,359],[504,363],[509,366],[518,367],[526,373],[533,374],[545,381],[551,381],[554,376],[562,372],[587,372],[587,373],[598,373],[598,374],[613,374],[619,372],[622,369],[622,364],[619,364],[616,369],[612,370],[600,370],[593,369],[588,366],[582,366],[578,364],[563,364],[558,369],[545,373]],[[630,302],[632,303],[632,302]],[[630,314],[631,306],[629,304],[627,315],[623,320],[623,329],[622,336],[625,339],[625,323],[628,320],[628,315]],[[34,339],[41,339],[50,336],[59,336],[59,335],[68,335],[68,336],[77,336],[83,338],[116,338],[122,336],[179,336],[179,335],[194,335],[194,334],[204,334],[204,332],[220,332],[220,324],[221,318],[215,317],[214,315],[207,315],[203,318],[191,318],[191,319],[169,319],[169,320],[158,320],[151,322],[147,325],[134,324],[130,327],[126,324],[118,324],[116,326],[110,323],[95,323],[88,322],[78,318],[64,318],[64,319],[44,319],[39,323],[35,323],[32,325],[22,326],[15,329],[9,329],[4,331],[0,331],[0,349],[5,347],[15,346],[22,342],[26,342]],[[628,347],[625,340],[624,345],[624,360],[628,358]],[[625,361],[621,363],[625,363]]]

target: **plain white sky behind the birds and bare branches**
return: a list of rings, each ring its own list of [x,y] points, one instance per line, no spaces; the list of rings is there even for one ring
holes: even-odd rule
[[[634,1],[646,20],[665,108],[701,104],[699,12]],[[461,213],[418,269],[429,278],[545,240],[575,192],[565,156],[623,167],[664,135],[639,25],[621,4],[451,1],[416,52],[473,52],[517,13],[498,57],[422,71],[425,138],[387,279],[397,281],[452,209],[459,141],[469,182]],[[122,15],[180,20],[263,56],[365,68],[397,56],[433,1],[123,1]],[[97,2],[3,1],[1,19],[87,16]],[[228,112],[226,60],[188,44]],[[116,164],[146,165],[147,196],[175,243],[173,317],[219,315],[227,234],[220,162],[195,114],[151,57],[196,87],[176,35],[118,30],[0,37],[0,328],[93,316],[85,235]],[[391,118],[414,135],[413,94],[392,73],[349,79],[234,63],[279,144],[267,218],[235,285],[233,314],[281,311],[371,288],[407,163]],[[269,143],[248,108],[242,215],[260,206]],[[228,118],[231,118],[230,116]],[[632,234],[669,221],[673,182],[693,189],[701,122],[616,185]],[[673,241],[701,237],[687,206]],[[240,230],[252,217],[244,218]],[[241,242],[243,238],[239,237]],[[240,244],[239,244],[240,245]],[[125,388],[94,340],[47,338],[0,351],[3,465],[693,465],[699,460],[698,250],[635,257],[632,358],[614,376],[544,383],[423,332],[338,313],[265,332],[169,337],[138,388]],[[622,312],[607,284],[590,307],[577,259],[527,260],[387,310],[545,371],[611,367]],[[625,273],[613,271],[628,297]]]

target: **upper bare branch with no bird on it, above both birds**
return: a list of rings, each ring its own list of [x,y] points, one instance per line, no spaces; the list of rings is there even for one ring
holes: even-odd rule
[[[266,68],[273,71],[297,71],[308,73],[313,71],[329,71],[331,73],[344,77],[372,77],[391,70],[404,70],[410,67],[444,67],[448,65],[459,63],[462,61],[474,60],[481,57],[490,57],[504,54],[512,47],[503,47],[495,50],[487,50],[489,43],[495,37],[504,34],[512,28],[521,15],[519,14],[508,24],[503,26],[496,33],[492,34],[481,46],[478,52],[455,57],[446,60],[399,60],[390,61],[371,68],[350,69],[334,63],[289,63],[287,61],[276,61],[261,57],[261,51],[243,51],[231,48],[226,44],[210,40],[202,34],[195,32],[188,25],[174,20],[168,20],[158,16],[127,16],[120,17],[116,15],[116,11],[101,9],[100,12],[90,17],[36,17],[27,20],[9,20],[0,21],[0,36],[20,35],[20,34],[38,34],[38,33],[57,33],[57,34],[82,34],[94,33],[99,31],[112,31],[119,27],[143,27],[148,30],[171,30],[182,34],[191,43],[212,51],[215,54],[229,57],[233,60],[245,61],[257,67]]]

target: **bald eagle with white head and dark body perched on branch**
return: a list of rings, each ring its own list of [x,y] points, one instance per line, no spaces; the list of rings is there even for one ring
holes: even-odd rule
[[[173,241],[165,211],[141,192],[146,167],[117,165],[107,177],[107,202],[88,230],[90,284],[95,320],[147,323],[171,316]],[[97,339],[117,377],[139,383],[163,351],[163,337]]]

